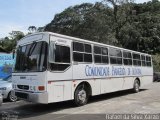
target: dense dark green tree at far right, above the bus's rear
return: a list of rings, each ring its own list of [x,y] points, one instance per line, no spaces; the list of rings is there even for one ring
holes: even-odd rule
[[[120,31],[125,48],[146,52],[160,52],[160,2],[133,5],[134,13]]]

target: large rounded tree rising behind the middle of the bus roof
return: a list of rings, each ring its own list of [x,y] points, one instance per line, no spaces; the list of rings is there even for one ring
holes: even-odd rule
[[[52,22],[45,27],[45,31],[115,44],[117,41],[110,26],[111,12],[112,9],[101,2],[69,7],[55,15]]]

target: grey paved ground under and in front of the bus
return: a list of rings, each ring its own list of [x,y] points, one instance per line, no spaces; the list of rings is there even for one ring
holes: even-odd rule
[[[92,97],[81,107],[75,107],[72,101],[48,105],[18,101],[3,103],[0,112],[17,112],[23,120],[105,120],[109,113],[156,114],[160,113],[160,82],[143,87],[139,93],[127,90]]]

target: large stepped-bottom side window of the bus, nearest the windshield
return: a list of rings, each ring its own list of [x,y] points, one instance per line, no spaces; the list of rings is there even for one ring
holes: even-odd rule
[[[54,49],[53,63],[50,63],[52,71],[64,71],[70,66],[70,48],[67,46],[56,45]]]

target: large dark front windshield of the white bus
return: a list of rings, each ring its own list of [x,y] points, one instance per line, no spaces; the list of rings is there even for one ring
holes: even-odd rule
[[[47,68],[48,44],[44,41],[19,46],[15,72],[41,72]]]

